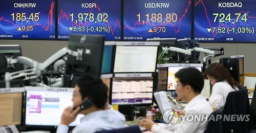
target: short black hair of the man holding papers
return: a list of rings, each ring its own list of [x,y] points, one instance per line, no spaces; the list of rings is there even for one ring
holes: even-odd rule
[[[175,74],[182,85],[190,85],[195,93],[201,93],[204,87],[203,74],[196,68],[184,68]]]

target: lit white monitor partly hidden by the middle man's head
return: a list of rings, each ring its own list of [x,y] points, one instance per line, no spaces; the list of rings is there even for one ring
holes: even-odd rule
[[[203,64],[199,63],[169,63],[165,65],[168,65],[167,90],[175,90],[174,84],[177,81],[175,78],[175,73],[177,73],[180,69],[194,67],[202,72],[203,67]]]

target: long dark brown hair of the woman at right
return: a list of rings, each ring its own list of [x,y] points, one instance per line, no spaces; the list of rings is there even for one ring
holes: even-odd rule
[[[239,85],[239,83],[232,78],[221,63],[211,63],[204,72],[204,77],[206,79],[208,79],[207,75],[212,78],[222,78],[223,80],[226,80],[233,90],[235,90],[235,88]]]

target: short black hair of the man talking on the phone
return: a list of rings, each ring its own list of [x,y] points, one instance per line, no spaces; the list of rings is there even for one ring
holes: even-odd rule
[[[76,82],[79,86],[82,100],[89,97],[96,107],[101,108],[105,106],[108,99],[108,87],[102,82],[100,77],[86,74],[79,78]]]

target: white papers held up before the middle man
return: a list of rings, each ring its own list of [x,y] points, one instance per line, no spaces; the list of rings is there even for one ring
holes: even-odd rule
[[[154,93],[155,99],[157,101],[157,105],[159,106],[159,109],[162,113],[162,115],[167,111],[171,110],[172,106],[170,106],[170,103],[167,99],[166,92],[156,92]]]

